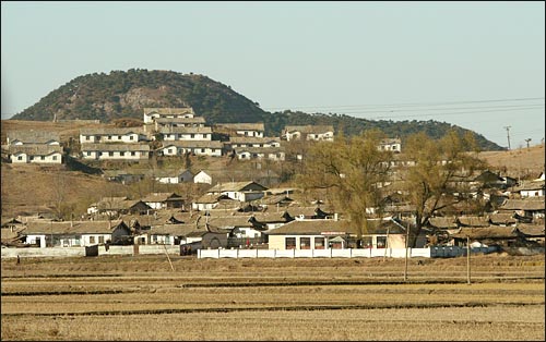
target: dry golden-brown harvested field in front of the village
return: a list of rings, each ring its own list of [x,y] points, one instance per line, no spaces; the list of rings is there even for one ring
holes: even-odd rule
[[[2,340],[545,339],[544,255],[2,260]]]

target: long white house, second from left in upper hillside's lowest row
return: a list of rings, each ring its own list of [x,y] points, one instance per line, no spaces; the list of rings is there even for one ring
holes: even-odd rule
[[[124,160],[139,161],[149,159],[147,144],[82,144],[81,156],[85,160]]]

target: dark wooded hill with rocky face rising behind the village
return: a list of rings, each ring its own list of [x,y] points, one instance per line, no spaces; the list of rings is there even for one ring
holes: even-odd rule
[[[100,120],[121,118],[142,120],[145,107],[191,106],[207,124],[221,122],[263,122],[265,134],[278,136],[285,125],[328,124],[345,135],[379,129],[389,136],[425,132],[439,138],[450,129],[468,130],[437,121],[370,121],[345,114],[305,113],[286,110],[268,112],[258,102],[234,91],[228,85],[203,75],[173,71],[131,69],[109,74],[94,73],[76,77],[52,90],[37,103],[15,114],[14,120],[52,121],[67,119]],[[483,150],[502,150],[499,145],[475,134]]]

